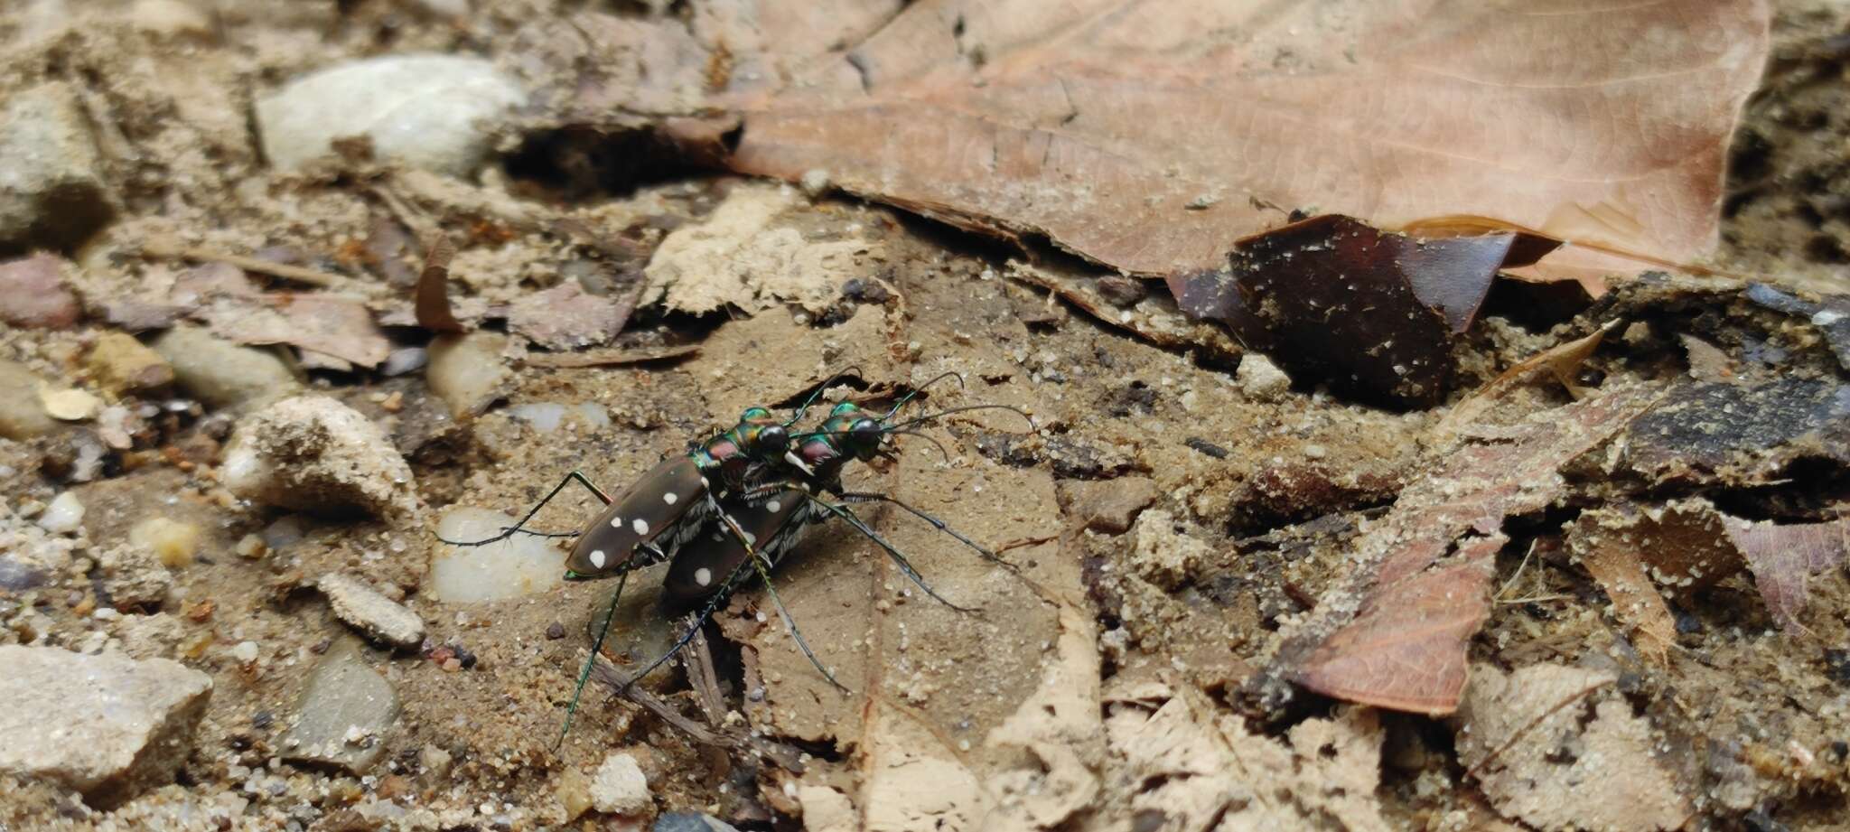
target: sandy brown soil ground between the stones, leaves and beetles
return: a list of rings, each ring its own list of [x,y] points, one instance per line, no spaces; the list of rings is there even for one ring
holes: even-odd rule
[[[346,275],[352,283],[339,288],[387,320],[409,316],[420,251],[413,244],[381,255],[381,224],[403,233],[420,224],[450,229],[461,248],[451,268],[459,309],[512,303],[586,274],[610,281],[598,294],[622,296],[646,279],[636,263],[607,259],[572,235],[524,227],[494,200],[555,205],[561,216],[620,229],[648,251],[672,229],[703,222],[742,194],[768,198],[762,192],[783,205],[771,220],[777,229],[832,246],[836,255],[803,274],[836,290],[805,294],[814,287],[801,285],[784,294],[801,303],[744,301],[705,316],[644,307],[612,348],[697,348],[662,361],[555,368],[524,361],[516,340],[494,403],[462,420],[450,418],[450,403],[422,373],[298,366],[307,390],[385,427],[429,508],[420,518],[329,518],[237,499],[220,471],[235,409],[163,410],[133,447],[111,449],[100,473],[83,481],[70,471],[94,438],[67,431],[0,440],[0,490],[20,523],[28,507],[43,510],[70,490],[87,507],[91,542],[120,540],[150,516],[202,534],[191,564],[170,569],[165,601],[126,616],[96,618],[96,582],[78,568],[30,592],[0,593],[9,623],[0,643],[168,656],[209,673],[215,686],[178,786],[100,812],[56,786],[7,778],[0,828],[646,828],[673,812],[740,828],[831,830],[1156,830],[1184,828],[1190,817],[1202,825],[1188,828],[1212,828],[1223,817],[1319,828],[1556,828],[1543,815],[1511,817],[1511,786],[1486,775],[1474,747],[1458,740],[1465,717],[1354,708],[1310,693],[1289,703],[1256,697],[1280,632],[1339,588],[1354,566],[1354,542],[1408,483],[1434,470],[1445,447],[1439,427],[1469,390],[1598,322],[1630,325],[1580,372],[1604,386],[1682,377],[1696,364],[1684,336],[1715,344],[1735,364],[1746,346],[1776,344],[1789,349],[1789,362],[1756,372],[1844,383],[1828,349],[1774,312],[1704,288],[1711,283],[1676,283],[1619,290],[1578,318],[1543,325],[1493,305],[1460,346],[1467,379],[1432,410],[1365,407],[1310,385],[1260,392],[1236,375],[1238,359],[1151,344],[1010,277],[1012,261],[1069,266],[1051,251],[1023,255],[892,209],[736,177],[683,168],[638,177],[625,165],[666,168],[666,161],[636,139],[622,142],[640,163],[586,159],[572,146],[516,155],[531,163],[533,153],[557,153],[548,157],[553,170],[590,165],[623,187],[562,190],[551,174],[509,165],[490,168],[479,192],[429,198],[385,168],[276,174],[244,128],[253,89],[305,68],[379,52],[505,55],[520,20],[562,15],[574,4],[494,4],[457,22],[429,11],[450,6],[440,2],[270,2],[222,7],[209,31],[178,24],[178,35],[150,33],[155,24],[144,17],[163,4],[133,4],[135,15],[126,4],[59,6],[6,9],[0,35],[11,43],[43,26],[33,15],[80,26],[17,48],[0,89],[54,74],[81,78],[89,89],[105,166],[122,190],[115,224],[72,255],[68,279],[91,305],[142,296],[185,274],[189,263],[139,255],[150,239],[179,235]],[[1735,152],[1724,268],[1850,292],[1846,20],[1850,6],[1841,2],[1782,7],[1767,87],[1750,104]],[[501,148],[518,139],[511,133]],[[736,266],[727,257],[770,257],[753,251],[686,257],[718,274]],[[862,281],[840,292],[858,275],[877,277],[879,290]],[[736,287],[714,292],[736,298],[725,294]],[[94,316],[72,329],[6,329],[0,357],[57,385],[94,388],[81,357],[107,329]],[[385,335],[394,346],[429,340],[411,325]],[[810,667],[764,590],[749,588],[705,630],[718,699],[690,686],[679,662],[644,684],[683,719],[733,734],[703,741],[594,686],[555,747],[586,630],[610,582],[438,601],[427,588],[427,564],[444,553],[435,518],[450,507],[520,514],[572,470],[622,490],[740,409],[788,407],[847,366],[858,370],[836,396],[892,401],[895,390],[958,372],[964,386],[931,386],[919,412],[1005,403],[1032,414],[1032,431],[1008,412],[945,418],[927,431],[942,453],[903,438],[895,460],[849,473],[851,486],[942,516],[1016,568],[986,562],[897,508],[868,507],[864,516],[938,593],[977,612],[932,601],[866,536],[827,525],[801,542],[775,586],[847,691]],[[166,399],[146,398],[163,407]],[[1560,386],[1537,386],[1508,407],[1569,401]],[[540,431],[512,416],[531,403],[596,403],[609,420],[568,416],[557,431]],[[1598,719],[1589,706],[1582,723],[1611,730],[1563,728],[1565,740],[1545,749],[1554,756],[1537,754],[1534,765],[1587,749],[1643,760],[1656,769],[1606,777],[1635,777],[1632,797],[1639,804],[1663,797],[1684,828],[1844,828],[1844,569],[1811,579],[1802,632],[1776,627],[1746,571],[1678,590],[1669,595],[1674,649],[1656,664],[1639,658],[1622,610],[1569,553],[1565,531],[1584,508],[1684,497],[1750,518],[1828,520],[1850,496],[1843,455],[1830,457],[1746,484],[1645,483],[1584,460],[1567,470],[1565,499],[1510,520],[1489,584],[1495,601],[1469,660],[1497,673],[1569,666],[1610,675]],[[594,510],[588,496],[568,492],[535,525],[572,529]],[[1112,514],[1136,520],[1116,525]],[[255,558],[239,555],[246,536],[283,520],[305,529],[302,540]],[[401,712],[379,738],[383,756],[363,773],[281,760],[309,669],[350,632],[313,590],[329,571],[385,590],[427,627],[424,649],[366,651]],[[677,610],[660,606],[651,590],[659,575],[657,568],[629,582],[607,655],[651,658],[679,632],[670,618]],[[237,658],[233,647],[244,642],[257,645],[257,660]],[[459,647],[472,662],[446,667]],[[1497,706],[1473,699],[1473,714]],[[1160,719],[1180,719],[1180,728],[1156,740]],[[1626,719],[1645,727],[1643,740],[1615,740],[1630,736]],[[1215,751],[1177,740],[1206,736],[1208,727],[1238,741]],[[1160,749],[1147,751],[1153,743]],[[1241,760],[1241,749],[1258,751]],[[1145,751],[1151,758],[1138,756]],[[649,810],[585,810],[588,778],[612,752],[638,762],[653,793]],[[1164,754],[1171,767],[1153,762]],[[1232,784],[1206,777],[1241,767],[1251,777]],[[1541,801],[1574,793],[1536,780]],[[1182,782],[1195,782],[1195,791]],[[1240,789],[1251,793],[1227,797]],[[1334,795],[1343,789],[1362,793]],[[1191,815],[1191,801],[1210,801],[1204,793],[1223,804]],[[1247,815],[1254,806],[1278,814]]]

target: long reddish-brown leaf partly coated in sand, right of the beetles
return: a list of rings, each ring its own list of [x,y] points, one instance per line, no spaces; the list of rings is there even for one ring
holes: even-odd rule
[[[1560,499],[1560,466],[1624,429],[1659,394],[1648,385],[1598,390],[1530,416],[1500,442],[1462,440],[1441,451],[1436,470],[1356,542],[1350,575],[1284,636],[1247,690],[1267,695],[1267,682],[1289,679],[1384,708],[1452,712],[1465,677],[1456,660],[1486,603],[1476,581],[1487,575],[1471,569],[1500,545],[1504,516]],[[1456,564],[1441,562],[1467,531],[1480,538],[1458,544]]]

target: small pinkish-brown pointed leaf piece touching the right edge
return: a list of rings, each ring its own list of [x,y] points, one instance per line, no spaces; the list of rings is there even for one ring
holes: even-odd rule
[[[1728,518],[1726,529],[1772,619],[1780,629],[1804,630],[1798,614],[1806,608],[1806,582],[1850,557],[1850,520],[1774,525]]]

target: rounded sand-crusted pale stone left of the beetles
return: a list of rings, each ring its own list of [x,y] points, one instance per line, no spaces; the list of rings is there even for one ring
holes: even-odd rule
[[[327,396],[292,396],[239,422],[220,477],[231,494],[311,512],[424,512],[411,466],[379,425]]]

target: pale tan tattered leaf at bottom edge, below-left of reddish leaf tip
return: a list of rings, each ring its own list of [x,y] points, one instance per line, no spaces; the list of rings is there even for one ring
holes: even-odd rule
[[[1128,802],[1164,830],[1389,828],[1375,799],[1376,712],[1345,708],[1334,719],[1306,719],[1288,745],[1249,732],[1190,686],[1164,693],[1158,708],[1112,706],[1108,782],[1125,793],[1108,804]]]

